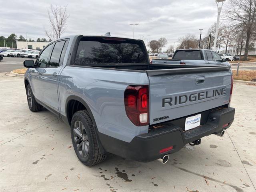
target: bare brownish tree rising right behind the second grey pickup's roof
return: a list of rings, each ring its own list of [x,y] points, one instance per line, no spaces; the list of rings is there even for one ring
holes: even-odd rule
[[[198,48],[199,45],[199,40],[195,35],[191,34],[186,34],[184,37],[179,37],[178,41],[180,42],[178,49]]]

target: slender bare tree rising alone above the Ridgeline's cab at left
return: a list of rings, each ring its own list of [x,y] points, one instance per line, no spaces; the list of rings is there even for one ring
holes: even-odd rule
[[[51,4],[47,11],[51,27],[49,30],[45,29],[45,33],[48,38],[55,40],[64,33],[70,15],[67,13],[67,5],[57,6]]]

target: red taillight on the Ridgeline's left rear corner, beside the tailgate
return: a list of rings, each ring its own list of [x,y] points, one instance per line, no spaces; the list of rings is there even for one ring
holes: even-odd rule
[[[124,91],[124,106],[126,115],[134,125],[148,125],[148,101],[148,85],[130,85]]]

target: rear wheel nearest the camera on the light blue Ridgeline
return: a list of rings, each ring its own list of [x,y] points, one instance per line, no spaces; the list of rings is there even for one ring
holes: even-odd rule
[[[100,153],[96,133],[87,110],[76,112],[71,121],[71,138],[76,156],[86,166],[93,166],[106,159]]]

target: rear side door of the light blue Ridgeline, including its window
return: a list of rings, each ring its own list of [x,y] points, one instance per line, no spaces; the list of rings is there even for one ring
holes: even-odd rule
[[[43,102],[48,107],[58,113],[59,108],[59,99],[57,84],[60,71],[62,69],[62,63],[67,47],[67,40],[60,40],[54,43],[52,53],[50,55],[49,62],[45,68],[44,73],[42,74],[42,97]]]

